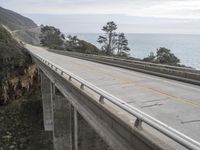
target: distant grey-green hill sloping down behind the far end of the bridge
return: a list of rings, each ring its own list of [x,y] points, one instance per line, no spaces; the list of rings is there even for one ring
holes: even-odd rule
[[[40,44],[40,27],[31,19],[0,7],[0,24],[9,28],[19,40],[33,45]]]

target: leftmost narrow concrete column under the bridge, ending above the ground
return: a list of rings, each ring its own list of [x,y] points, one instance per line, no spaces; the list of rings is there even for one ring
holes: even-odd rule
[[[53,130],[52,103],[51,103],[51,81],[40,71],[43,121],[45,131]]]

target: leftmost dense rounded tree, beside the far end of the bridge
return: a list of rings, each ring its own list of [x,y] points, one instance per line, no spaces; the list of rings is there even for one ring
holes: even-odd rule
[[[59,29],[52,26],[43,26],[41,28],[40,43],[50,48],[60,48],[64,44],[64,35]]]

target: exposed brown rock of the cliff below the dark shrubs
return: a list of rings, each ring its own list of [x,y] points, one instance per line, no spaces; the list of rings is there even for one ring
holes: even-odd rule
[[[19,70],[20,72],[8,72],[4,80],[1,81],[1,105],[20,98],[33,86],[37,76],[37,66],[30,64],[27,67],[21,67]]]

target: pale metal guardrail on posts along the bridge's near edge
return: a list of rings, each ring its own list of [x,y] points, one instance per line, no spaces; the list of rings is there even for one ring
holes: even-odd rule
[[[30,51],[29,51],[30,52]],[[178,132],[177,130],[173,129],[172,127],[160,122],[159,120],[147,115],[146,113],[140,111],[137,108],[134,108],[133,106],[129,105],[128,103],[122,101],[121,99],[114,97],[113,95],[103,91],[102,89],[88,83],[87,81],[81,79],[80,77],[74,75],[73,73],[65,70],[64,68],[54,64],[53,62],[47,61],[46,59],[42,58],[41,56],[38,56],[36,54],[33,54],[30,52],[32,56],[39,59],[41,62],[49,66],[52,70],[57,72],[59,75],[61,75],[63,78],[64,75],[67,75],[68,78],[65,78],[69,82],[72,80],[77,81],[80,83],[80,90],[84,90],[85,88],[88,88],[99,95],[99,102],[100,104],[104,104],[105,101],[109,101],[112,104],[118,106],[122,110],[126,111],[127,113],[133,115],[136,117],[136,121],[134,124],[135,128],[140,128],[142,126],[142,122],[148,124],[155,130],[159,131],[160,133],[164,134],[165,136],[169,137],[170,139],[176,141],[183,147],[190,149],[190,150],[200,150],[200,143],[197,141],[191,139],[190,137]]]

